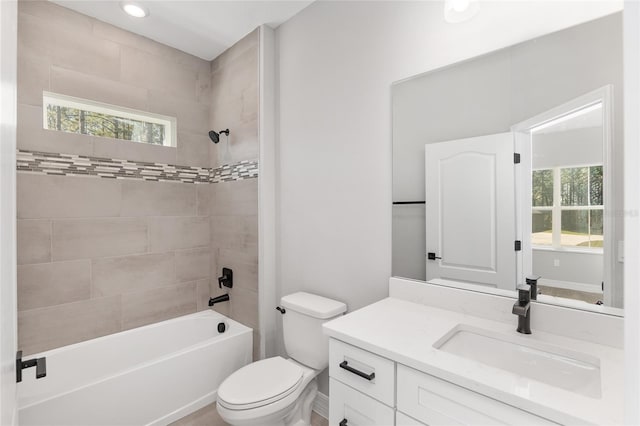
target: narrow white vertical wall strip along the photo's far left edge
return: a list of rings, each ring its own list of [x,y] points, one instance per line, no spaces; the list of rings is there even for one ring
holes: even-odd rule
[[[0,2],[0,424],[16,416],[16,68],[18,9]]]

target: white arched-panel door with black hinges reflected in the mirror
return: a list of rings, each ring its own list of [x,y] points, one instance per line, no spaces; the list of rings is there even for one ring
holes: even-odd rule
[[[427,281],[514,288],[513,154],[512,133],[425,145]]]

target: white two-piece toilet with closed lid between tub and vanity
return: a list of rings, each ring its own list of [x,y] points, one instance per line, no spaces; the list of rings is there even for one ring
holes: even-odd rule
[[[344,314],[347,306],[304,292],[284,296],[280,304],[289,358],[256,361],[222,382],[216,405],[220,417],[231,425],[310,424],[318,392],[316,376],[329,364],[322,324]]]

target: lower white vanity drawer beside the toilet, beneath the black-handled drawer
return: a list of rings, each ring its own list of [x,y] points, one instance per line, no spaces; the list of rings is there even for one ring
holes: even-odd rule
[[[329,379],[329,426],[394,425],[393,408]]]

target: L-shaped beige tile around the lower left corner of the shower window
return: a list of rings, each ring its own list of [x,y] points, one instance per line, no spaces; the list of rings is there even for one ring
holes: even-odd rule
[[[93,152],[92,136],[43,129],[42,106],[18,104],[17,124],[18,149],[79,155]]]

